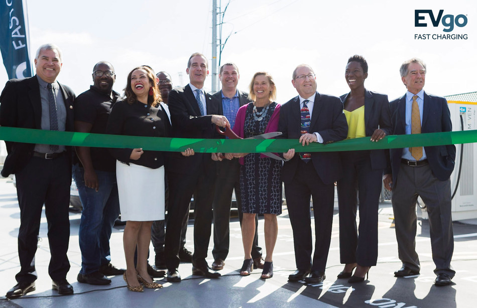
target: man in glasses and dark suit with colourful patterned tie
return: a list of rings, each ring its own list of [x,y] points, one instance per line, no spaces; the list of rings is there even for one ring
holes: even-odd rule
[[[316,77],[309,65],[293,71],[293,86],[299,96],[282,105],[278,130],[280,138],[297,139],[301,153],[283,153],[288,214],[293,230],[297,270],[289,281],[305,279],[319,283],[325,279],[326,259],[333,221],[334,182],[341,177],[341,162],[333,152],[306,152],[310,142],[330,143],[346,138],[348,125],[338,97],[316,92]],[[311,237],[310,198],[313,197],[315,251]],[[308,276],[309,275],[309,276]]]

